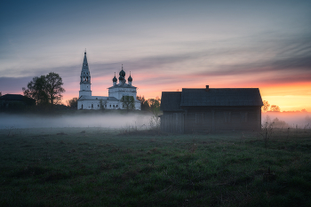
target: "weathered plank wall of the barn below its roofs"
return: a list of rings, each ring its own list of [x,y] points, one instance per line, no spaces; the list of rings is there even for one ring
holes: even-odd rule
[[[261,107],[187,107],[183,112],[163,112],[161,130],[172,133],[208,131],[258,131]]]

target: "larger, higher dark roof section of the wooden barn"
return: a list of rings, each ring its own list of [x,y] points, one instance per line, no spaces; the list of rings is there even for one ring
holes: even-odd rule
[[[181,107],[263,106],[258,88],[182,89]]]

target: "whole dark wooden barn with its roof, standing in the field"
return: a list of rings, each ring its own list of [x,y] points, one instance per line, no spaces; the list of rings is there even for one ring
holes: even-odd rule
[[[162,92],[161,130],[173,133],[258,131],[263,106],[258,88]]]

